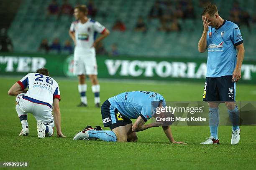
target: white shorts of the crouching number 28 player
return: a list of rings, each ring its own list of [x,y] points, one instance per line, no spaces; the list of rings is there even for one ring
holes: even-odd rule
[[[31,113],[34,115],[36,120],[41,120],[49,128],[54,127],[54,117],[51,114],[52,108],[47,105],[42,105],[38,103],[33,103],[29,100],[24,99],[25,93],[20,93],[16,97],[16,102],[18,103],[20,110],[25,113]]]

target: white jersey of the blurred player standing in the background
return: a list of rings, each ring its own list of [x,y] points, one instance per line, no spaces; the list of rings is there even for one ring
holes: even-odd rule
[[[70,31],[75,32],[76,48],[83,50],[95,50],[92,45],[95,41],[97,33],[103,33],[105,27],[99,22],[88,18],[86,23],[81,23],[80,20],[74,21],[70,26]]]

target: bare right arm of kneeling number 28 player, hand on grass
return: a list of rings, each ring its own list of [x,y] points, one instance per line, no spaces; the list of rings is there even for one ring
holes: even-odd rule
[[[61,113],[59,108],[59,99],[55,98],[53,102],[54,122],[56,126],[57,136],[66,137],[61,132]]]

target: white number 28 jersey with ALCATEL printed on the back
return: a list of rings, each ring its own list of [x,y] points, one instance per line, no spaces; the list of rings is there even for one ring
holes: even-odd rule
[[[39,73],[29,73],[18,81],[21,90],[28,87],[23,99],[47,105],[52,108],[54,98],[60,99],[59,85],[51,77]]]

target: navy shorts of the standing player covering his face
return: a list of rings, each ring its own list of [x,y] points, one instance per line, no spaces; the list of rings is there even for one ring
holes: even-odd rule
[[[236,83],[232,75],[206,77],[203,101],[230,102],[236,100]]]

